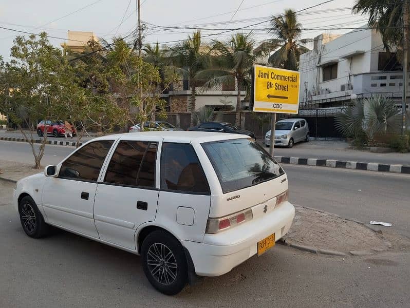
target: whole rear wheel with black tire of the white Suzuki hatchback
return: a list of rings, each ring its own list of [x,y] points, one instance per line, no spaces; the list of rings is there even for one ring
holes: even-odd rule
[[[187,258],[171,234],[164,230],[148,234],[141,246],[141,257],[146,278],[159,292],[176,295],[187,285]]]

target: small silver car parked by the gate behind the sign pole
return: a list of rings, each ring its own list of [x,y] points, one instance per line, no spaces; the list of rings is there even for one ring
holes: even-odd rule
[[[275,125],[275,145],[291,148],[295,143],[309,141],[309,126],[304,119],[286,119]],[[265,145],[270,145],[270,130],[265,135]]]

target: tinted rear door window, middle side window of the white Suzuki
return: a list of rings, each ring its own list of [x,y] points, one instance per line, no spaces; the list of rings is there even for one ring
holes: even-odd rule
[[[156,142],[121,141],[109,162],[104,182],[155,187]]]

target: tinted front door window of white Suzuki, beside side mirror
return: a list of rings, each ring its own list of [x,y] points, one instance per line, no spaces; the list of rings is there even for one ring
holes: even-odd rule
[[[59,176],[97,181],[101,166],[113,142],[112,140],[95,141],[83,146],[62,164]]]

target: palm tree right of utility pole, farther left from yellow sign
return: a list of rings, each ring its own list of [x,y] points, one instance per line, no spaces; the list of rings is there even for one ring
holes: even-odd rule
[[[169,49],[171,68],[184,79],[188,79],[191,87],[189,111],[191,112],[191,126],[196,123],[195,100],[198,72],[207,67],[209,48],[201,45],[201,32],[194,31],[188,40],[178,43]]]

